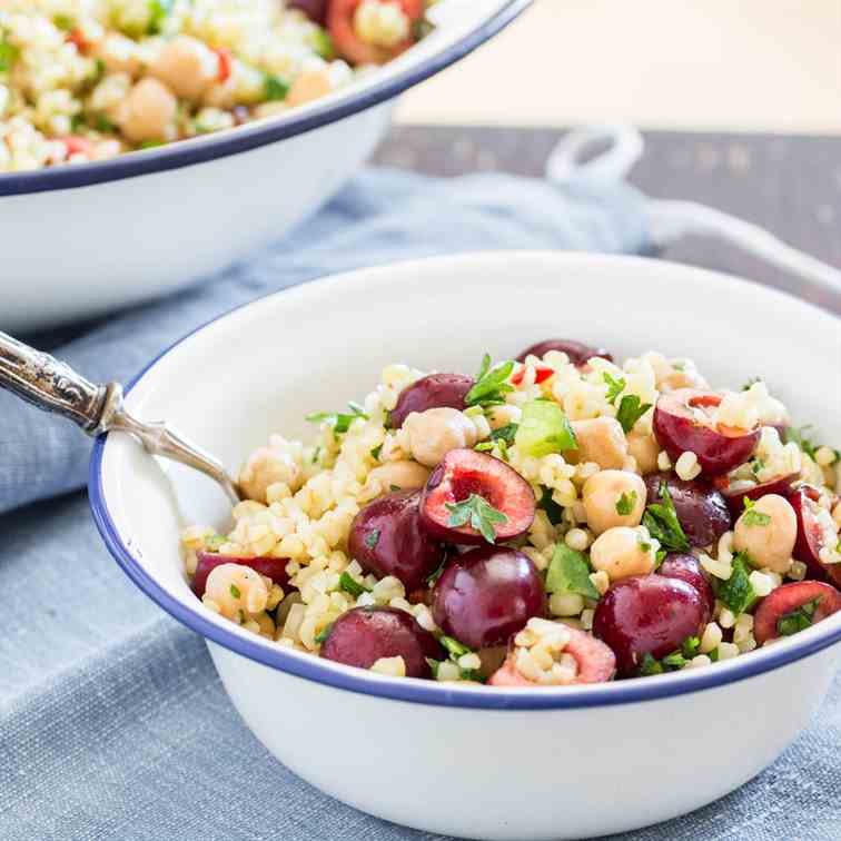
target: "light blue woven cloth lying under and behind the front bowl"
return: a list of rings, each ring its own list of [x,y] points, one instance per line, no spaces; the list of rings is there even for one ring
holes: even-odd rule
[[[641,253],[650,248],[643,218],[642,197],[623,185],[370,170],[253,261],[73,340],[39,342],[91,379],[126,382],[197,325],[320,275],[475,249]],[[89,449],[67,422],[0,393],[0,839],[434,838],[326,798],[266,753],[202,641],[140,594],[100,544],[83,494],[71,493]],[[631,838],[839,838],[840,691],[774,768]]]

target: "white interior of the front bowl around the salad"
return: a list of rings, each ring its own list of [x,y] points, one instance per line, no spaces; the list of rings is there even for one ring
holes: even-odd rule
[[[813,423],[823,439],[841,441],[841,400],[831,387],[841,347],[830,315],[748,281],[665,261],[551,253],[435,258],[280,293],[176,345],[140,376],[127,402],[139,417],[167,419],[236,467],[273,432],[311,434],[307,413],[363,398],[389,363],[472,373],[485,352],[508,358],[551,336],[600,344],[619,358],[649,349],[689,356],[716,386],[738,388],[762,375],[797,424]],[[344,672],[357,683],[388,682],[279,652],[200,605],[181,572],[178,541],[188,523],[226,525],[228,505],[210,481],[159,464],[126,436],[111,435],[95,457],[91,492],[100,530],[127,572],[194,629],[318,680]],[[760,664],[775,650],[819,645],[830,632],[841,635],[841,614],[750,657],[693,671],[720,675],[743,661]],[[699,677],[642,683],[681,680]],[[593,687],[572,694],[578,691]]]

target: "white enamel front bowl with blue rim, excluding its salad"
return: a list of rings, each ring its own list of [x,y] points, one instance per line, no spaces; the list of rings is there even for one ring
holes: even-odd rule
[[[306,435],[304,415],[363,397],[388,363],[473,372],[486,350],[508,358],[568,336],[621,358],[652,347],[687,355],[715,384],[762,373],[795,419],[839,441],[841,403],[828,388],[840,335],[821,310],[701,269],[479,254],[355,271],[238,309],[154,362],[128,405],[235,465],[273,431]],[[689,812],[798,736],[841,651],[837,614],[728,663],[610,684],[503,690],[374,675],[205,610],[181,572],[179,531],[224,526],[227,504],[206,478],[164,469],[125,436],[97,445],[91,501],[117,561],[207,637],[236,708],[278,760],[346,803],[429,832],[572,839]]]

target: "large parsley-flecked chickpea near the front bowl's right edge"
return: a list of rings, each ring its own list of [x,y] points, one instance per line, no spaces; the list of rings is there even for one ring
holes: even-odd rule
[[[734,548],[746,552],[754,566],[789,571],[798,517],[788,499],[778,494],[763,496],[739,517],[733,532]]]

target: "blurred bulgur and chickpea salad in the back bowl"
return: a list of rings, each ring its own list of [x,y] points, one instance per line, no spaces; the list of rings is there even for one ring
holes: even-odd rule
[[[397,57],[435,0],[2,0],[0,172],[281,113]]]

